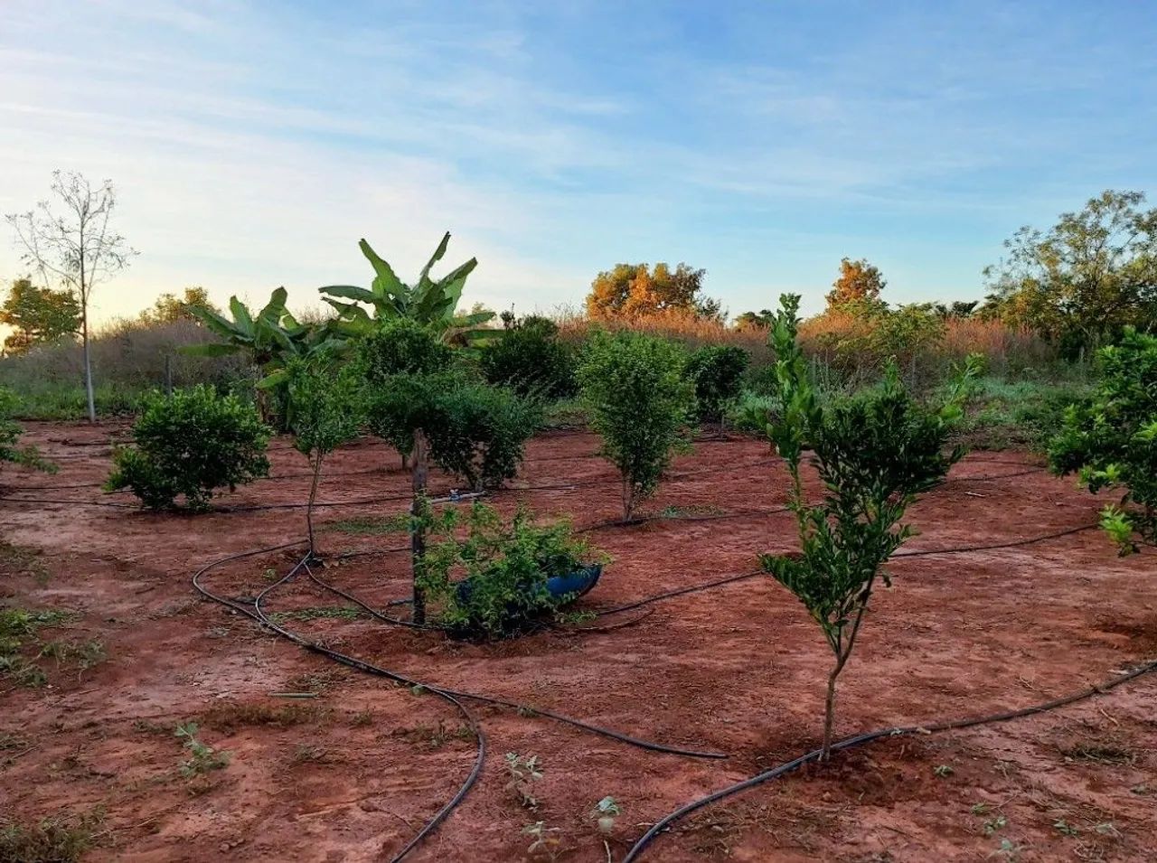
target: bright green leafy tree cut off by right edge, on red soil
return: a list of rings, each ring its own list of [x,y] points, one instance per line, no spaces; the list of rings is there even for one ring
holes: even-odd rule
[[[1101,526],[1129,554],[1138,543],[1157,545],[1157,337],[1126,327],[1098,361],[1097,391],[1069,406],[1048,456],[1056,473],[1077,473],[1093,494],[1125,489]]]

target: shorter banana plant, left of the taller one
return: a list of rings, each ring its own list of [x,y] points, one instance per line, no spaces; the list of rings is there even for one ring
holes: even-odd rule
[[[194,356],[248,352],[253,364],[265,373],[258,386],[268,389],[282,382],[285,366],[290,359],[344,347],[344,340],[334,335],[329,326],[299,323],[286,308],[287,296],[285,288],[278,288],[257,315],[237,297],[230,297],[233,320],[211,309],[192,307],[190,311],[223,341],[189,345],[183,352]]]

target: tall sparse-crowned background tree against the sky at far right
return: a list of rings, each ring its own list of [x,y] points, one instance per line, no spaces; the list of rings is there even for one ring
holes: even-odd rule
[[[1157,326],[1157,208],[1106,190],[1047,230],[1020,228],[985,270],[988,312],[1066,351],[1096,348],[1125,326]]]

